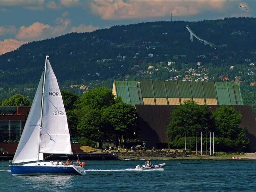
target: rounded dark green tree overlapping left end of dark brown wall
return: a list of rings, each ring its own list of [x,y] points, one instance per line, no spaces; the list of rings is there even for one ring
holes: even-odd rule
[[[129,104],[119,102],[102,109],[102,119],[109,136],[115,137],[116,146],[124,145],[127,139],[135,139],[139,134],[139,119],[136,109]]]

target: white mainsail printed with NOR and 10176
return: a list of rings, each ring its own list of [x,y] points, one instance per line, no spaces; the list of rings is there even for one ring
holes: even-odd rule
[[[40,153],[73,154],[62,96],[47,60]]]

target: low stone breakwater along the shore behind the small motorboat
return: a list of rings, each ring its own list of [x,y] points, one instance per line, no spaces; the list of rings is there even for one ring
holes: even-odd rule
[[[169,152],[169,151],[120,151],[115,153],[119,159],[140,159],[140,158],[159,158],[159,157],[187,157],[188,152]]]

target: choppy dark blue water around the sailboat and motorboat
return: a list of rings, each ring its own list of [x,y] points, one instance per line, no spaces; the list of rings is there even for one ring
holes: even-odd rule
[[[0,191],[256,191],[256,161],[153,161],[159,171],[136,171],[141,161],[85,161],[85,176],[12,176],[0,161]]]

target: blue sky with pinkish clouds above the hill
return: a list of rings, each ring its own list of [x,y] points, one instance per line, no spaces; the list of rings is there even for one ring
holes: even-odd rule
[[[245,8],[240,7],[241,5]],[[0,0],[0,55],[20,45],[113,25],[255,17],[255,0]]]

